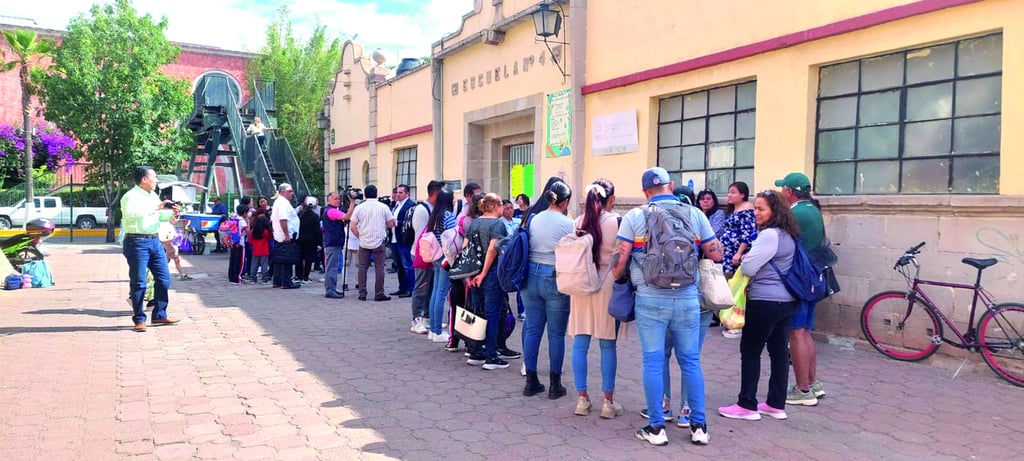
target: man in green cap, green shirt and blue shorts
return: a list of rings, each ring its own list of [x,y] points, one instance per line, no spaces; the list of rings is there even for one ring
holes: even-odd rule
[[[804,173],[790,173],[782,179],[776,179],[775,185],[782,187],[782,197],[790,202],[790,209],[797,217],[801,246],[808,252],[820,247],[824,242],[824,221],[817,201],[811,197],[811,180]],[[801,302],[793,316],[790,355],[797,383],[785,395],[786,405],[817,405],[817,397],[825,394],[821,381],[817,379],[817,352],[811,337],[814,307],[814,303]]]

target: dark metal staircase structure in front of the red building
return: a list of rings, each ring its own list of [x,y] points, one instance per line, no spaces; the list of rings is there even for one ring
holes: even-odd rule
[[[227,77],[220,75],[207,75],[197,85],[188,120],[188,128],[196,133],[197,149],[187,164],[182,165],[181,176],[205,185],[207,191],[233,190],[240,195],[267,198],[274,195],[278,184],[289,182],[295,187],[296,198],[301,200],[308,194],[308,187],[288,141],[272,130],[267,131],[264,152],[254,136],[246,135],[253,117],[274,126],[260,97],[260,93],[269,91],[273,100],[272,83],[258,90],[241,111],[228,85]],[[215,184],[218,177],[228,183]],[[202,201],[206,200],[204,194]]]

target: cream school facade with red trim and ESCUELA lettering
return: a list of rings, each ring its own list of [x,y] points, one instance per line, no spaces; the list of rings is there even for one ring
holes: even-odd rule
[[[534,13],[561,17],[545,43]],[[375,57],[377,57],[375,59]],[[803,171],[843,291],[818,330],[856,336],[871,294],[927,242],[922,276],[1018,296],[1024,269],[1024,2],[477,0],[396,77],[347,42],[329,96],[328,190],[430,179],[503,197],[597,177],[624,207],[653,165],[724,198]],[[424,198],[425,194],[416,197]],[[954,320],[969,292],[930,291]]]

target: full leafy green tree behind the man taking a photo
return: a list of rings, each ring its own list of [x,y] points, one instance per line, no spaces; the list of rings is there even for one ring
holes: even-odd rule
[[[177,172],[188,156],[191,135],[180,122],[189,114],[189,85],[161,73],[180,52],[166,29],[166,17],[139,16],[130,0],[93,5],[88,17],[72,18],[53,69],[40,73],[47,119],[81,142],[91,162],[87,180],[102,186],[111,216],[136,166]],[[113,242],[113,219],[106,228]]]

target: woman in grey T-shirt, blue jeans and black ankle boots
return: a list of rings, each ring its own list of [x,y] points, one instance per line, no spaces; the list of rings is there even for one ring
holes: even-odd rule
[[[569,321],[569,297],[558,292],[555,284],[555,245],[573,232],[572,220],[565,217],[565,210],[572,198],[572,191],[562,181],[554,181],[544,192],[548,209],[529,218],[529,274],[526,276],[522,301],[526,306],[526,321],[522,328],[522,350],[526,364],[525,396],[544,391],[537,377],[537,355],[541,348],[544,328],[548,328],[548,359],[551,377],[548,399],[565,395],[562,386],[562,362],[565,358],[565,329]]]

